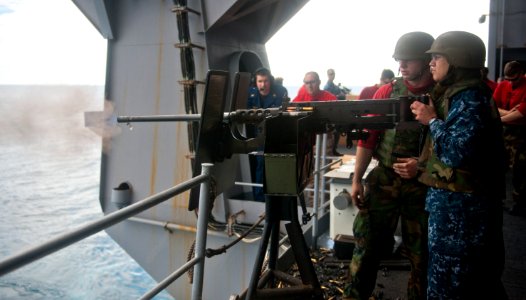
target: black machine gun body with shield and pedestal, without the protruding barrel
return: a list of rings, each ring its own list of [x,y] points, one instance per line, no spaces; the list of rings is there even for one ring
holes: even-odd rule
[[[313,167],[314,136],[337,129],[353,138],[365,138],[366,129],[389,129],[395,126],[418,126],[410,105],[423,98],[400,97],[385,100],[327,101],[288,103],[276,109],[243,109],[246,102],[246,74],[237,74],[230,113],[224,113],[228,87],[228,73],[210,71],[201,114],[200,132],[194,162],[197,175],[203,162],[220,164],[233,154],[250,153],[264,149],[265,176],[263,190],[266,195],[266,223],[257,262],[246,295],[247,299],[280,295],[281,291],[262,291],[258,283],[263,259],[270,242],[269,269],[274,271],[278,253],[278,231],[281,221],[290,221],[286,229],[291,248],[302,277],[301,295],[322,299],[322,290],[297,216],[297,198],[307,185]],[[243,99],[243,95],[245,98]],[[262,134],[248,138],[239,130],[243,124],[259,124]],[[216,166],[214,169],[219,169]],[[214,175],[214,174],[212,174]],[[233,182],[227,176],[216,176]],[[226,185],[216,183],[221,192]],[[197,208],[197,190],[192,190],[189,209]],[[303,203],[302,203],[303,204]],[[280,289],[282,290],[282,289]],[[283,290],[283,295],[290,290]]]

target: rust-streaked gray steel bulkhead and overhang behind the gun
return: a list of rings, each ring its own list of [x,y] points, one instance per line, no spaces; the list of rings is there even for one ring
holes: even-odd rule
[[[200,14],[188,13],[195,80],[204,81],[210,69],[250,72],[268,66],[265,43],[307,1],[187,1]],[[174,3],[162,0],[75,1],[97,29],[108,38],[105,98],[107,112],[117,116],[185,114],[183,78]],[[231,80],[232,81],[232,80]],[[231,83],[232,86],[232,83]],[[204,85],[197,84],[197,107],[202,106]],[[226,107],[230,107],[227,103]],[[199,113],[199,111],[198,111]],[[192,177],[186,122],[120,124],[117,133],[104,138],[100,201],[105,214],[117,207],[114,188],[131,186],[131,202],[170,188]],[[246,181],[235,156],[218,166],[218,176]],[[228,166],[228,167],[225,167]],[[234,167],[231,167],[234,166]],[[228,172],[227,172],[228,171]],[[142,222],[126,221],[107,230],[154,279],[160,281],[187,260],[195,239],[194,211],[188,211],[188,193],[140,214],[146,220],[171,222],[189,230],[166,230]],[[217,202],[217,201],[216,201]],[[225,201],[216,205],[218,219],[224,210],[249,213],[253,222],[264,212],[261,203]],[[224,232],[208,237],[208,247],[222,246],[234,237]],[[206,260],[203,297],[227,299],[249,283],[258,242],[240,243],[225,255]],[[168,289],[176,299],[189,299],[191,284],[181,278]],[[213,295],[213,296],[212,296]]]

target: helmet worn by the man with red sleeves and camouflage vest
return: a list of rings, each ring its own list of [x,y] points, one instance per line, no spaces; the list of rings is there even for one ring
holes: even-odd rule
[[[429,61],[431,56],[426,54],[426,50],[431,47],[435,39],[428,33],[421,31],[409,32],[402,35],[396,42],[393,58],[402,59],[421,59]]]

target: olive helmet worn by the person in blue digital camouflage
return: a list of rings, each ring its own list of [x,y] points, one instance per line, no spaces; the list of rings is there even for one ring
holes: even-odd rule
[[[450,65],[458,68],[481,69],[486,61],[484,42],[466,31],[441,34],[426,53],[444,55]]]

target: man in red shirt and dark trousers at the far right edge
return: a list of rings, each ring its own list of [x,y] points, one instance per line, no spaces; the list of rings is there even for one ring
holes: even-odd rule
[[[517,61],[504,67],[501,81],[493,99],[499,108],[504,127],[504,141],[512,172],[512,215],[526,215],[526,78],[524,68]]]

